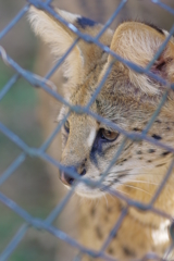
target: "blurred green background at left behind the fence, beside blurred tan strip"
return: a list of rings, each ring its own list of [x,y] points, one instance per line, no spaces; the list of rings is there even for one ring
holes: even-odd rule
[[[25,1],[0,1],[0,30],[9,24],[25,3]],[[4,36],[0,45],[21,66],[29,71],[34,70],[36,40],[26,15]],[[14,73],[0,59],[0,90]],[[44,132],[37,113],[37,94],[38,90],[25,79],[20,78],[0,101],[0,122],[32,147],[39,147],[44,140]],[[21,152],[17,146],[0,133],[0,175]],[[34,216],[45,219],[54,207],[46,163],[39,159],[27,158],[0,187],[0,191]],[[24,221],[17,214],[0,202],[0,253],[23,223]],[[53,260],[54,241],[53,236],[29,228],[9,260]]]

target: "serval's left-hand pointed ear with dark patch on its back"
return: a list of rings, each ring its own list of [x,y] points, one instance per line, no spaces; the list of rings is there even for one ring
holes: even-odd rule
[[[54,11],[67,23],[73,24],[82,33],[89,34],[90,36],[96,36],[102,28],[101,24],[80,15],[59,9],[54,9]],[[77,35],[67,26],[63,25],[46,11],[40,11],[32,7],[29,10],[29,20],[35,33],[51,46],[55,58],[62,57],[77,38]],[[112,30],[108,29],[101,38],[103,39],[107,34],[109,34],[109,37],[105,37],[105,39],[110,40],[107,40],[105,45],[111,42],[113,36]],[[87,71],[91,70],[91,64],[96,62],[96,59],[101,58],[101,54],[96,49],[94,50],[92,46],[80,39],[65,59],[64,76],[71,80],[72,85],[80,84],[84,74],[88,74]]]

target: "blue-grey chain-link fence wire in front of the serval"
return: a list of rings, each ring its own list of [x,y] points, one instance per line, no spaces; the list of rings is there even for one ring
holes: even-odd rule
[[[156,5],[159,5],[160,8],[166,10],[167,12],[170,12],[171,14],[174,15],[174,10],[171,9],[169,5],[166,5],[165,3],[161,2],[160,0],[151,0],[151,2],[153,4],[156,4]],[[90,116],[95,117],[97,121],[102,122],[102,123],[107,124],[108,126],[112,127],[112,129],[115,129],[119,133],[123,134],[124,137],[125,137],[123,142],[120,145],[120,148],[119,148],[117,152],[115,153],[115,156],[111,160],[109,166],[102,173],[100,181],[94,182],[94,181],[90,181],[89,178],[79,176],[77,173],[75,173],[73,171],[70,171],[70,169],[67,169],[64,165],[62,165],[59,161],[54,160],[53,158],[51,158],[46,152],[48,147],[50,146],[50,144],[53,141],[54,137],[57,136],[57,134],[60,132],[62,125],[67,120],[70,113],[66,114],[66,116],[58,124],[58,126],[55,127],[54,132],[42,144],[42,146],[40,148],[28,147],[17,135],[15,135],[15,133],[13,133],[11,129],[9,129],[5,125],[3,125],[0,122],[0,132],[3,133],[11,141],[13,141],[23,151],[14,160],[14,162],[12,162],[12,164],[9,165],[9,167],[4,171],[4,173],[2,173],[2,175],[0,176],[0,186],[2,186],[2,184],[11,175],[13,175],[13,173],[26,160],[27,157],[40,158],[40,159],[45,160],[46,162],[49,162],[49,163],[53,164],[60,171],[64,171],[64,172],[69,173],[69,175],[74,177],[76,181],[83,182],[83,183],[87,184],[88,186],[101,187],[104,177],[107,176],[109,170],[112,167],[112,165],[115,163],[115,161],[120,157],[120,154],[121,154],[121,152],[122,152],[122,150],[124,148],[124,145],[125,145],[127,139],[132,139],[135,142],[139,141],[139,140],[146,140],[147,142],[150,142],[150,144],[152,144],[154,146],[158,146],[158,147],[160,147],[162,149],[165,149],[166,151],[170,151],[170,152],[174,153],[174,148],[173,147],[171,147],[171,146],[169,146],[166,144],[163,144],[163,142],[161,142],[161,141],[152,138],[152,137],[149,137],[147,135],[148,130],[151,128],[153,122],[156,121],[157,116],[159,115],[159,113],[161,111],[161,108],[163,107],[163,104],[166,101],[169,90],[174,89],[174,84],[169,84],[165,79],[163,79],[159,75],[153,74],[152,72],[150,72],[151,66],[154,64],[157,59],[161,55],[161,53],[163,52],[163,50],[166,47],[167,42],[170,41],[171,37],[173,36],[173,34],[174,34],[174,25],[171,28],[169,36],[166,37],[164,42],[161,45],[161,47],[159,48],[158,52],[156,53],[153,59],[150,61],[150,63],[145,69],[140,67],[137,64],[135,64],[133,62],[129,62],[129,61],[123,59],[122,57],[117,55],[115,52],[110,50],[109,47],[107,47],[107,46],[104,46],[103,44],[100,42],[100,37],[105,32],[105,29],[111,25],[113,20],[116,17],[116,15],[120,13],[122,8],[126,3],[127,3],[127,0],[120,1],[120,4],[119,4],[117,9],[114,11],[113,15],[109,18],[109,21],[104,24],[103,28],[100,30],[100,33],[96,37],[91,37],[89,35],[83,34],[74,25],[67,23],[63,17],[61,17],[54,11],[54,9],[51,5],[51,0],[45,1],[45,2],[40,1],[40,0],[27,0],[27,4],[10,22],[10,24],[0,33],[0,39],[2,39],[10,30],[13,29],[13,27],[18,23],[18,21],[23,17],[23,15],[28,11],[29,7],[34,5],[37,9],[47,11],[55,20],[60,21],[63,25],[67,26],[77,36],[77,38],[72,44],[72,46],[66,51],[66,53],[64,53],[64,55],[50,70],[50,72],[48,72],[48,74],[45,77],[40,77],[38,75],[35,75],[34,73],[28,72],[25,69],[21,67],[7,53],[7,51],[0,46],[0,55],[1,55],[2,60],[3,60],[3,62],[5,64],[8,64],[9,66],[13,67],[14,72],[15,72],[14,75],[5,84],[5,86],[1,89],[1,91],[0,91],[0,101],[8,94],[8,91],[13,87],[13,85],[21,77],[23,77],[32,86],[37,87],[37,88],[42,88],[45,91],[47,91],[48,95],[52,96],[55,100],[59,100],[64,105],[69,107],[71,112],[73,111],[73,112],[78,113],[78,114],[87,113]],[[124,63],[129,69],[134,70],[135,72],[140,73],[140,74],[146,74],[149,77],[151,77],[152,79],[158,80],[161,84],[167,86],[167,90],[163,95],[157,111],[153,113],[153,115],[149,120],[147,126],[145,127],[145,129],[141,133],[126,132],[125,129],[121,128],[120,126],[117,126],[116,124],[112,123],[111,121],[109,121],[107,119],[103,119],[102,116],[100,116],[100,115],[98,115],[98,114],[96,114],[96,113],[90,111],[90,105],[92,104],[92,102],[96,100],[98,94],[100,92],[100,90],[101,90],[101,88],[102,88],[102,86],[103,86],[108,75],[111,72],[113,63],[110,64],[105,75],[101,79],[99,86],[97,87],[97,89],[94,92],[89,103],[86,107],[82,108],[79,105],[72,105],[61,95],[55,92],[57,87],[53,85],[53,83],[51,83],[49,80],[49,78],[57,71],[57,69],[63,63],[63,61],[66,59],[66,57],[73,50],[73,48],[76,46],[76,44],[78,42],[79,39],[84,39],[86,42],[89,42],[89,44],[95,44],[98,47],[100,47],[104,52],[111,54],[113,57],[113,63],[114,63],[115,60],[117,60],[117,61]],[[105,187],[105,191],[111,194],[114,197],[117,197],[119,199],[124,200],[127,203],[126,204],[127,207],[125,207],[123,209],[123,211],[121,212],[121,215],[120,215],[119,220],[115,221],[115,225],[113,226],[110,235],[108,236],[107,240],[103,243],[103,245],[102,245],[102,247],[101,247],[101,249],[99,251],[94,251],[91,249],[88,249],[88,248],[84,247],[80,243],[78,243],[74,238],[70,237],[66,233],[64,233],[63,231],[58,229],[55,226],[52,225],[53,221],[58,217],[58,215],[62,212],[62,210],[64,209],[64,207],[67,203],[67,201],[71,199],[71,197],[74,194],[74,190],[75,190],[75,187],[76,187],[77,184],[75,184],[72,187],[72,189],[66,194],[65,198],[57,206],[57,208],[54,208],[52,210],[52,212],[47,216],[46,220],[36,219],[35,216],[33,216],[28,212],[26,212],[23,208],[21,208],[17,203],[15,203],[13,200],[11,200],[5,195],[0,192],[0,201],[4,206],[10,208],[12,211],[14,211],[18,216],[21,216],[24,220],[24,224],[21,226],[21,228],[14,235],[14,237],[9,243],[9,245],[3,250],[3,252],[0,253],[0,261],[8,260],[10,258],[10,256],[15,250],[15,248],[18,246],[18,244],[21,243],[21,240],[23,239],[23,237],[25,236],[27,229],[30,226],[33,226],[33,227],[35,227],[37,229],[47,231],[47,232],[51,233],[52,235],[54,235],[57,238],[60,238],[61,240],[64,240],[66,244],[71,245],[72,247],[76,248],[78,250],[78,254],[74,258],[74,260],[82,260],[83,254],[85,254],[85,253],[90,256],[90,257],[92,257],[92,258],[99,258],[100,257],[102,260],[110,260],[110,261],[116,260],[113,257],[107,254],[104,251],[105,251],[107,247],[109,246],[110,241],[112,240],[113,235],[115,235],[117,233],[119,228],[121,227],[122,222],[123,222],[124,217],[126,216],[129,207],[133,207],[133,208],[138,209],[138,210],[150,211],[152,213],[156,213],[156,214],[158,214],[160,216],[163,216],[163,217],[170,220],[170,222],[171,222],[170,234],[171,234],[172,241],[171,241],[170,248],[166,249],[166,252],[164,253],[164,257],[163,257],[163,260],[169,260],[170,259],[170,254],[171,254],[171,252],[174,249],[174,223],[173,223],[174,217],[171,216],[170,214],[165,213],[164,211],[161,211],[161,210],[157,209],[154,207],[154,202],[156,202],[157,198],[159,197],[159,195],[161,194],[165,183],[167,182],[167,179],[169,179],[169,177],[170,177],[170,175],[171,175],[171,173],[173,171],[173,167],[174,167],[174,160],[171,162],[171,165],[170,165],[170,167],[169,167],[169,170],[166,172],[166,175],[164,176],[162,183],[160,184],[159,188],[157,189],[156,194],[153,195],[153,197],[152,197],[152,199],[151,199],[151,201],[149,203],[142,203],[142,202],[133,200],[133,199],[128,198],[127,196],[119,192],[117,190],[113,190],[111,188],[107,188]],[[149,259],[150,260],[161,260],[161,258],[158,254],[156,254],[156,253],[147,253],[140,260],[149,260]]]

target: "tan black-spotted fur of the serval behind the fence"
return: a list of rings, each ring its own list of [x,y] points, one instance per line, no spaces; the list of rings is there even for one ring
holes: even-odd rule
[[[57,10],[67,22],[73,23],[83,33],[97,35],[102,25],[80,27],[77,18]],[[53,52],[62,55],[76,36],[51,18],[42,11],[32,9],[32,24],[37,34],[47,42],[53,45]],[[166,35],[166,34],[165,34]],[[105,30],[100,41],[110,46],[111,50],[126,60],[145,67],[153,58],[159,47],[165,39],[154,28],[138,22],[121,24],[114,35],[111,29]],[[151,71],[160,75],[169,83],[174,80],[174,41],[171,40]],[[72,104],[85,107],[113,58],[104,53],[99,47],[80,40],[66,61],[65,72],[65,98]],[[153,112],[156,111],[162,95],[169,88],[161,83],[138,74],[120,62],[115,62],[96,101],[90,110],[108,120],[113,121],[120,127],[133,132],[141,132]],[[169,99],[148,132],[149,136],[158,136],[170,146],[174,146],[173,135],[173,92],[169,92]],[[67,113],[63,107],[60,120]],[[100,129],[112,130],[103,123],[96,121],[86,114],[71,112],[69,117],[70,134],[62,128],[63,152],[61,163],[66,166],[75,166],[80,174],[86,170],[85,177],[98,181],[102,172],[108,167],[120,147],[123,135],[113,142],[103,142],[101,151],[96,144]],[[100,137],[99,137],[100,139]],[[100,141],[99,141],[100,142]],[[95,147],[96,146],[96,147]],[[96,150],[95,150],[96,149]],[[101,153],[102,152],[102,153]],[[148,203],[162,182],[169,165],[173,159],[172,153],[160,147],[156,147],[145,140],[126,145],[115,164],[109,171],[103,181],[103,187],[117,189],[132,199]],[[94,163],[94,160],[97,164]],[[125,174],[116,182],[120,174]],[[174,174],[172,173],[167,184],[163,188],[154,206],[171,215],[174,215]],[[100,188],[90,188],[79,183],[76,192],[84,197],[98,198],[98,203],[88,200],[79,208],[79,228],[82,243],[92,249],[99,250],[107,239],[110,231],[119,219],[125,203],[110,195],[105,195]],[[96,206],[95,206],[96,204]],[[119,233],[111,240],[108,253],[120,260],[133,260],[141,258],[150,251],[161,257],[170,245],[167,236],[169,221],[154,215],[151,212],[140,212],[134,208],[128,209]],[[85,259],[84,259],[85,260]],[[86,260],[92,260],[86,257]],[[98,259],[100,260],[100,259]]]

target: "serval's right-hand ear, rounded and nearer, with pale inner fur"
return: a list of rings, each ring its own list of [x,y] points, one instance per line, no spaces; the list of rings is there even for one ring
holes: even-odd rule
[[[165,40],[166,35],[166,32],[156,26],[139,22],[125,22],[115,30],[111,42],[111,50],[122,58],[146,67]],[[112,58],[109,55],[109,61],[111,60]],[[126,69],[125,72],[128,75],[128,82],[135,86],[137,90],[140,88],[141,91],[150,96],[160,95],[162,90],[164,90],[162,85],[157,80],[149,78],[145,74],[138,74],[121,63],[119,64],[121,69]],[[167,82],[174,82],[173,39],[170,40],[150,70]]]

